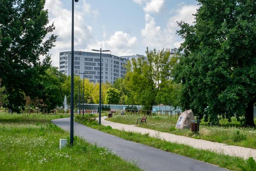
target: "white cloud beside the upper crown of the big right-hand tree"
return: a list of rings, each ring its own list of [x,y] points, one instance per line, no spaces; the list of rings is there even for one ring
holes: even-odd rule
[[[183,40],[176,35],[176,30],[179,30],[176,21],[192,24],[194,22],[192,14],[196,13],[197,8],[196,5],[181,6],[174,11],[174,16],[168,19],[166,27],[162,29],[157,26],[152,16],[145,14],[145,28],[141,30],[144,44],[156,49],[179,47]]]

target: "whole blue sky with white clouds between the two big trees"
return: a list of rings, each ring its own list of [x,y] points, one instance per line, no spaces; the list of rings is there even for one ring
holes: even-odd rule
[[[50,50],[52,65],[59,66],[59,52],[71,50],[71,0],[46,0],[49,25],[58,35]],[[178,48],[176,21],[193,24],[195,0],[79,0],[74,6],[74,50],[111,50],[111,54],[145,55],[149,49]],[[42,59],[43,57],[41,57]]]

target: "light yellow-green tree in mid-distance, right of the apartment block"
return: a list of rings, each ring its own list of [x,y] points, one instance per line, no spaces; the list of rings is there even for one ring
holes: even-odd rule
[[[157,51],[147,48],[146,54],[147,60],[139,58],[128,62],[125,88],[132,104],[141,104],[151,110],[158,92],[167,86],[167,77],[170,77],[177,57],[170,56],[170,49]]]

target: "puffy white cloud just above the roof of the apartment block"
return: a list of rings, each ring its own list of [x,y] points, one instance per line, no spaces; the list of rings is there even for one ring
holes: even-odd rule
[[[134,54],[137,45],[137,38],[131,37],[122,31],[116,31],[114,35],[106,41],[96,41],[94,44],[87,46],[86,50],[103,48],[111,50],[113,55],[130,55]]]

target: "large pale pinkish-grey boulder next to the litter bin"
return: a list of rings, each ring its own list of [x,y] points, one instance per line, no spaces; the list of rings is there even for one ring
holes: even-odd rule
[[[191,109],[184,111],[182,112],[182,114],[180,114],[180,117],[175,127],[177,129],[191,128],[191,121],[194,121],[194,120],[195,120],[195,117]]]

